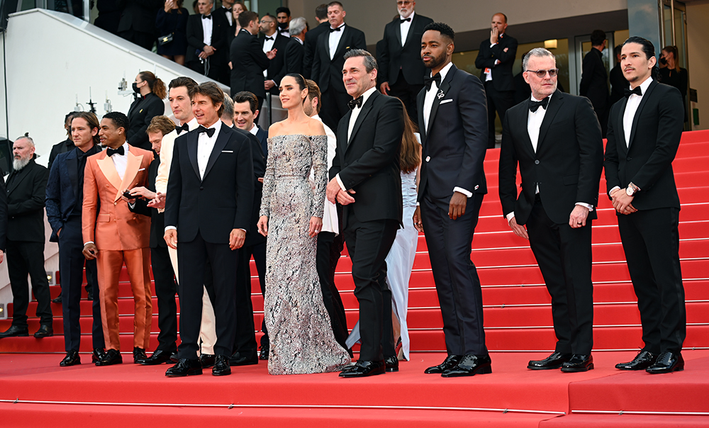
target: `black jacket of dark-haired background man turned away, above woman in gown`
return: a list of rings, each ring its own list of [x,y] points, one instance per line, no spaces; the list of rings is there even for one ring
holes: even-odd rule
[[[258,38],[242,28],[231,42],[230,59],[231,93],[250,91],[260,98],[266,98],[264,69],[268,68],[271,61]]]

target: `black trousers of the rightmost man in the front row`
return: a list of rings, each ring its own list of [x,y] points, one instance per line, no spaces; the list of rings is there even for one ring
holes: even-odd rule
[[[657,208],[618,216],[618,229],[637,295],[644,350],[680,352],[687,335],[679,266],[679,210]]]

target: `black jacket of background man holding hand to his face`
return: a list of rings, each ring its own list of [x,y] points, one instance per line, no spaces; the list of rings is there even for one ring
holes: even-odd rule
[[[507,50],[507,52],[505,52]],[[512,66],[517,56],[517,39],[507,33],[498,38],[497,44],[490,47],[490,39],[480,43],[478,56],[475,58],[475,67],[480,69],[480,79],[485,81],[485,69],[492,70],[492,81],[497,91],[514,91],[515,81]],[[499,64],[495,64],[499,60]]]

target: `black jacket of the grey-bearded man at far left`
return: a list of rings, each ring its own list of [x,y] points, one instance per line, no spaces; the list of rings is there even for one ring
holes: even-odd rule
[[[44,200],[49,171],[30,159],[7,178],[7,239],[45,242]]]

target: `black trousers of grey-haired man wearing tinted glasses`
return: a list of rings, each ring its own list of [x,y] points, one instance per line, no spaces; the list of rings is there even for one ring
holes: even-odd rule
[[[537,196],[527,220],[530,247],[552,296],[557,352],[591,354],[593,348],[593,283],[591,220],[573,229],[552,222]]]

